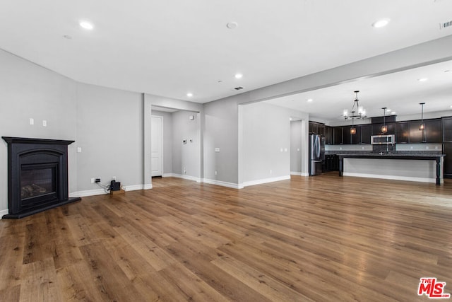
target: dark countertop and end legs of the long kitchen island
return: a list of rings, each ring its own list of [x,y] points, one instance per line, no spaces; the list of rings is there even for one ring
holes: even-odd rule
[[[336,153],[339,158],[339,175],[343,176],[344,158],[375,158],[375,159],[403,159],[436,161],[436,185],[441,184],[441,160],[444,154],[436,152],[393,152],[393,153],[369,153],[369,152],[345,152]]]

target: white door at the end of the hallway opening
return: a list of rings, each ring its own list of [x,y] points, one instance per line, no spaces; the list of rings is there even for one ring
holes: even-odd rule
[[[152,176],[162,176],[163,170],[163,117],[150,117],[150,168]]]

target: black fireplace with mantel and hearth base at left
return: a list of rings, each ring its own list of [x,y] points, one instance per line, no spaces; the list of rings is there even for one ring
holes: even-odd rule
[[[68,145],[74,141],[2,137],[8,143],[8,214],[22,218],[76,202],[69,198]]]

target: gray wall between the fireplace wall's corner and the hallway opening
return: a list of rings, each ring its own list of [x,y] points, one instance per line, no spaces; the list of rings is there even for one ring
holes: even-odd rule
[[[143,185],[143,115],[140,93],[77,83],[78,191],[113,176],[124,186]]]

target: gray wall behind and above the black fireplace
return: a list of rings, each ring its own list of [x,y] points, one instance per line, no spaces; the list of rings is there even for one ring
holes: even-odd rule
[[[76,140],[76,83],[0,50],[0,136]],[[30,125],[30,117],[35,124]],[[47,120],[47,127],[42,126]],[[69,191],[77,188],[76,145],[69,145]],[[0,212],[8,209],[7,144],[0,143]]]

